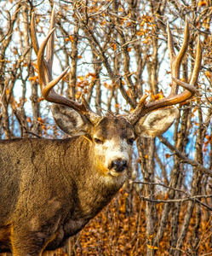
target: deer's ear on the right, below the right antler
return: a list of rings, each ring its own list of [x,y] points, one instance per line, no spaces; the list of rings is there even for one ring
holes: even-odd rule
[[[163,108],[142,117],[135,125],[135,133],[141,137],[157,137],[167,131],[179,116],[176,108]]]

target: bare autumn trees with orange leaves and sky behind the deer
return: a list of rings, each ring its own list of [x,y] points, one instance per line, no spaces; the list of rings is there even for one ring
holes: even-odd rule
[[[167,22],[180,49],[186,17],[191,38],[180,78],[189,81],[198,35],[203,46],[198,93],[177,108],[175,125],[135,144],[129,180],[112,203],[66,246],[45,255],[211,255],[212,253],[212,0],[0,2],[0,137],[66,137],[43,101],[32,50],[56,9],[57,86],[96,113],[128,113],[140,96],[168,96]],[[180,89],[181,90],[181,89]],[[18,152],[17,152],[18,154]]]

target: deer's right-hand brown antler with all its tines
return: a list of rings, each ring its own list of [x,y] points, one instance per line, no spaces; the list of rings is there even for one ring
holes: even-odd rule
[[[189,98],[191,98],[195,93],[196,93],[196,89],[194,87],[194,85],[197,83],[198,80],[198,74],[200,72],[200,68],[201,68],[201,61],[202,61],[202,47],[201,47],[201,43],[200,40],[198,38],[198,46],[197,46],[197,51],[196,51],[196,58],[195,58],[195,63],[194,63],[194,68],[193,68],[193,72],[192,72],[192,79],[190,81],[190,84],[187,84],[185,82],[182,82],[179,80],[180,77],[180,64],[183,60],[184,55],[186,54],[186,49],[189,43],[189,27],[188,27],[188,22],[186,20],[186,28],[185,28],[185,33],[184,33],[185,37],[183,40],[183,44],[180,48],[180,51],[178,53],[178,55],[175,55],[175,49],[174,49],[174,45],[173,45],[173,38],[172,38],[172,34],[170,32],[169,29],[169,25],[168,25],[168,48],[169,48],[169,58],[170,58],[170,64],[171,64],[171,69],[172,69],[172,79],[175,82],[175,84],[173,83],[172,85],[172,90],[171,93],[168,97],[156,101],[156,102],[150,102],[147,104],[144,104],[144,102],[142,103],[143,105],[140,106],[140,104],[138,104],[138,106],[135,108],[135,110],[129,114],[128,119],[130,121],[131,124],[135,125],[135,123],[144,115],[146,115],[146,113],[150,113],[155,109],[158,108],[164,108],[164,107],[168,107],[171,105],[175,105],[178,104],[180,102],[185,102],[186,100],[188,100]],[[184,90],[182,93],[180,93],[179,95],[177,95],[177,86],[176,84],[182,86]],[[144,96],[143,96],[144,97]],[[142,99],[142,98],[141,98]]]

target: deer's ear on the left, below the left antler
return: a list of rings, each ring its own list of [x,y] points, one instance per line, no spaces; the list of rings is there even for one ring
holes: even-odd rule
[[[86,135],[92,126],[86,117],[72,108],[54,104],[52,114],[60,129],[71,136]]]

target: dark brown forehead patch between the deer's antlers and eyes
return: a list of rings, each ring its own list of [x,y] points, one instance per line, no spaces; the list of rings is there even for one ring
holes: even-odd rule
[[[133,137],[134,127],[123,117],[104,117],[95,127],[95,134],[104,139]]]

